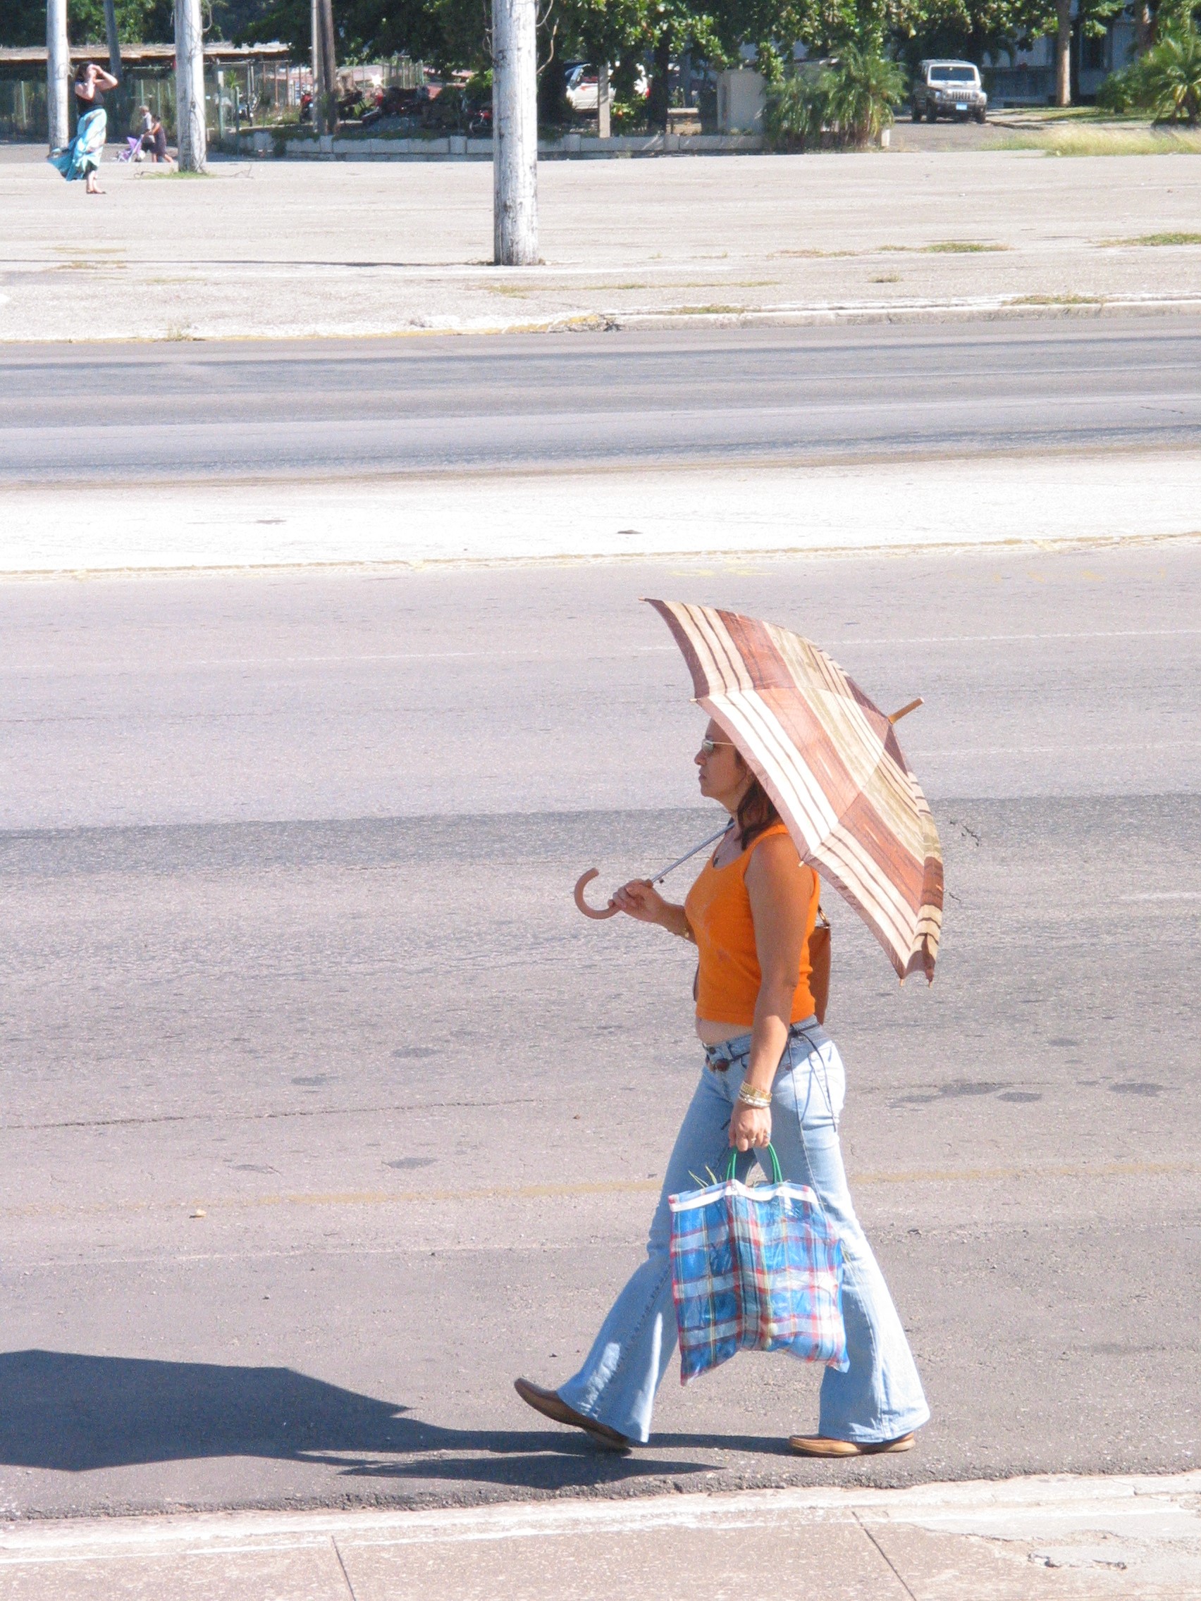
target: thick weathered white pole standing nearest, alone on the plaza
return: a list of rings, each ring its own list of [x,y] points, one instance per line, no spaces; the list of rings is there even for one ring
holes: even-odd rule
[[[536,0],[492,0],[492,232],[498,267],[538,263]]]

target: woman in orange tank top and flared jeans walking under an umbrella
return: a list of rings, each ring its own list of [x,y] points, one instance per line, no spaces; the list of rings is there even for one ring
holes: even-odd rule
[[[695,941],[705,1068],[668,1161],[647,1260],[573,1378],[557,1390],[519,1378],[516,1388],[544,1417],[588,1430],[609,1449],[645,1444],[655,1391],[676,1348],[668,1196],[695,1188],[693,1175],[706,1169],[719,1172],[730,1146],[743,1153],[741,1175],[770,1143],[783,1177],[817,1193],[844,1254],[850,1366],[825,1370],[818,1431],[791,1436],[789,1444],[817,1457],[908,1451],[930,1414],[842,1170],[842,1060],[817,1021],[809,986],[817,874],[717,722],[708,725],[697,765],[701,794],[730,813],[721,844],[682,906],[639,879],[618,890],[613,905]]]

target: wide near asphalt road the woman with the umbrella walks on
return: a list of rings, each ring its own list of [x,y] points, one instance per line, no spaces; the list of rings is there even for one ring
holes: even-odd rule
[[[935,985],[829,906],[908,1457],[788,1457],[781,1358],[669,1377],[625,1460],[509,1388],[591,1338],[698,1071],[687,953],[570,903],[709,826],[641,594],[927,696]],[[1195,1465],[1199,602],[1188,541],[0,588],[0,1508]]]

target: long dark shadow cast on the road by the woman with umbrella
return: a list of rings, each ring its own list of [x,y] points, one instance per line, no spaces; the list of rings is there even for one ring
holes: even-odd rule
[[[0,1463],[88,1473],[200,1457],[271,1457],[354,1478],[528,1487],[705,1473],[597,1451],[567,1430],[456,1430],[290,1367],[224,1367],[72,1351],[0,1353]],[[658,1451],[780,1454],[783,1441],[666,1434]],[[396,1460],[404,1457],[408,1460]],[[496,1460],[503,1459],[503,1460]]]

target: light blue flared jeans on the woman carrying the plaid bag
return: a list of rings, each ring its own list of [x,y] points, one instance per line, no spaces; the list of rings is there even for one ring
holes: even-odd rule
[[[746,1076],[751,1036],[706,1050],[706,1063],[676,1138],[650,1225],[647,1260],[613,1302],[580,1372],[559,1386],[576,1412],[628,1439],[650,1438],[655,1391],[676,1350],[668,1196],[725,1175],[730,1113]],[[719,1071],[722,1069],[724,1071]],[[772,1145],[783,1177],[809,1185],[842,1241],[846,1372],[826,1367],[818,1433],[831,1439],[895,1439],[930,1415],[884,1274],[863,1236],[842,1170],[837,1121],[846,1074],[837,1047],[815,1018],[794,1023],[772,1084]],[[753,1153],[738,1159],[743,1177]],[[793,1423],[794,1420],[789,1420]]]

